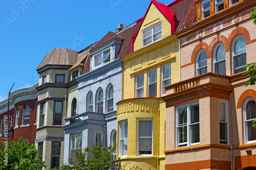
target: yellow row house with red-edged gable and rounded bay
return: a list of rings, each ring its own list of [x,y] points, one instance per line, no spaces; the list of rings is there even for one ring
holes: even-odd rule
[[[117,103],[117,158],[142,169],[165,168],[164,86],[179,82],[179,40],[187,0],[150,2],[131,54],[122,58],[122,100]]]

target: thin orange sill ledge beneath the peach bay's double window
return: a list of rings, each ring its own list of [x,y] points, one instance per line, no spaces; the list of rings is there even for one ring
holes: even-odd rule
[[[169,153],[189,151],[189,150],[191,152],[194,152],[192,150],[203,149],[203,148],[219,148],[219,149],[230,150],[230,146],[229,145],[207,143],[207,144],[194,145],[193,147],[183,147],[183,148],[176,148],[176,149],[171,149],[171,150],[165,150],[164,153],[165,154],[169,154]]]

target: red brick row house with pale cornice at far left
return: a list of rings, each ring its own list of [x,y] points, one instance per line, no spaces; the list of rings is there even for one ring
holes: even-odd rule
[[[18,140],[18,138],[22,137],[23,141],[35,142],[37,86],[38,83],[31,87],[24,87],[10,92],[9,118],[8,99],[0,102],[1,141],[5,141],[6,138],[8,138],[8,141]],[[7,127],[8,132],[6,133]]]

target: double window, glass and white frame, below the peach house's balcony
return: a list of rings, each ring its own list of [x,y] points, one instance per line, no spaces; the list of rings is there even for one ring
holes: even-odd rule
[[[177,107],[177,145],[184,147],[199,144],[199,103]]]

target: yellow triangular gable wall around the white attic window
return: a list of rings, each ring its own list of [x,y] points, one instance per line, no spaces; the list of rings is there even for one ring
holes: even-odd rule
[[[170,22],[159,11],[159,9],[153,3],[151,3],[135,37],[134,51],[142,48],[142,31],[160,22],[162,22],[162,39],[172,35]]]

